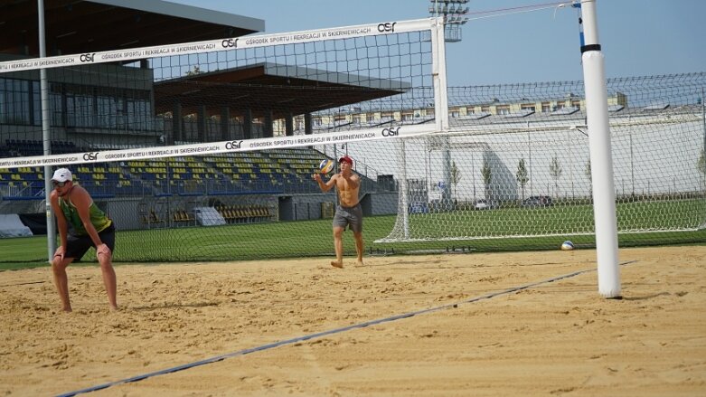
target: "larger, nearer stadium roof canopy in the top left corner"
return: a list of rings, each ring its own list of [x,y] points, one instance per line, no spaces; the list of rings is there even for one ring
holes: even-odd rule
[[[239,37],[265,21],[163,0],[44,0],[47,55]],[[39,55],[37,0],[0,0],[0,52]]]

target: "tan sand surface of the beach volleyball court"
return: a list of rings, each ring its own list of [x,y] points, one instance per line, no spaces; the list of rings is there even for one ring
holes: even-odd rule
[[[620,250],[620,300],[595,255],[120,265],[118,312],[71,266],[71,314],[50,269],[0,272],[0,395],[706,395],[706,247]]]

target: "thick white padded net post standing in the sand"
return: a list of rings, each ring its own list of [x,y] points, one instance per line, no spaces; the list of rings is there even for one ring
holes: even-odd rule
[[[604,298],[620,296],[620,269],[617,263],[616,189],[610,151],[607,87],[604,56],[598,43],[596,1],[581,3],[585,45],[581,46],[588,144],[593,179],[593,213],[596,222],[598,293]]]

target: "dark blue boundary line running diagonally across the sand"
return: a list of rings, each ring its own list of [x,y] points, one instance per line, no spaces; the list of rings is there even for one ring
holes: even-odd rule
[[[635,260],[623,262],[623,263],[621,263],[620,265],[622,266],[622,265],[630,264],[630,263],[633,263],[633,262],[635,262]],[[298,343],[298,342],[303,342],[303,341],[306,341],[306,340],[309,340],[309,339],[315,339],[315,338],[322,337],[322,336],[329,336],[329,335],[333,335],[333,334],[339,334],[339,333],[346,332],[346,331],[350,331],[350,330],[353,330],[353,329],[364,328],[364,327],[366,327],[366,326],[375,326],[375,325],[378,325],[378,324],[389,323],[389,322],[391,322],[391,321],[396,321],[396,320],[399,320],[399,319],[401,319],[401,318],[414,317],[414,316],[418,316],[418,315],[424,315],[424,314],[428,314],[428,313],[437,312],[437,311],[440,311],[440,310],[446,310],[446,309],[449,309],[449,308],[458,307],[458,305],[460,305],[460,304],[474,303],[474,302],[478,302],[478,301],[484,300],[484,299],[490,299],[490,298],[495,298],[495,297],[499,297],[499,296],[502,296],[502,295],[511,294],[511,293],[513,293],[513,292],[521,291],[522,289],[527,289],[527,288],[536,287],[536,286],[539,286],[539,285],[541,285],[541,284],[547,284],[547,283],[551,283],[551,282],[554,282],[554,281],[559,281],[559,280],[561,280],[561,279],[570,279],[570,278],[572,278],[572,277],[579,276],[579,274],[588,273],[588,272],[590,272],[590,271],[597,271],[597,269],[586,269],[586,270],[574,271],[574,272],[572,272],[572,273],[565,274],[565,275],[563,275],[563,276],[557,276],[557,277],[554,277],[554,278],[551,278],[551,279],[545,279],[545,280],[542,280],[542,281],[537,281],[537,282],[533,282],[533,283],[530,283],[530,284],[525,284],[525,285],[519,286],[519,287],[512,287],[512,288],[507,288],[507,289],[503,289],[503,290],[496,291],[496,292],[491,292],[491,293],[489,293],[489,294],[481,295],[480,297],[475,297],[475,298],[470,298],[470,299],[462,300],[462,301],[457,302],[457,303],[449,303],[449,304],[447,304],[447,305],[441,305],[441,306],[438,306],[438,307],[429,307],[429,308],[425,308],[425,309],[422,309],[422,310],[417,310],[417,311],[413,311],[413,312],[409,312],[409,313],[405,313],[405,314],[401,314],[401,315],[397,315],[397,316],[378,318],[378,319],[375,319],[375,320],[365,321],[365,322],[362,322],[362,323],[359,323],[359,324],[353,324],[353,326],[343,326],[343,327],[340,327],[340,328],[334,328],[334,329],[330,329],[330,330],[328,330],[328,331],[318,332],[318,333],[315,333],[315,334],[309,334],[309,335],[305,335],[305,336],[297,336],[297,337],[293,337],[293,338],[291,338],[291,339],[285,339],[285,340],[282,340],[282,341],[279,341],[279,342],[274,342],[274,343],[267,344],[267,345],[259,345],[259,346],[257,346],[257,347],[250,347],[250,348],[248,348],[248,349],[239,350],[239,351],[237,351],[237,352],[232,352],[232,353],[228,353],[228,354],[216,355],[216,356],[214,356],[214,357],[207,358],[207,359],[205,359],[205,360],[197,361],[197,362],[194,362],[194,363],[177,365],[177,366],[174,366],[174,367],[171,367],[171,368],[166,368],[166,369],[164,369],[164,370],[155,371],[155,372],[152,372],[152,373],[144,373],[144,374],[136,375],[136,376],[133,376],[133,377],[130,377],[130,378],[121,379],[121,380],[119,380],[119,381],[114,381],[114,382],[109,382],[109,383],[103,383],[103,384],[99,384],[99,385],[96,385],[96,386],[91,386],[91,387],[86,388],[86,389],[77,390],[77,391],[74,391],[74,392],[64,392],[64,393],[58,394],[58,397],[71,397],[71,396],[74,396],[74,395],[76,395],[76,394],[82,394],[82,393],[87,393],[87,392],[96,392],[96,391],[99,391],[99,390],[102,390],[102,389],[107,389],[108,387],[111,387],[111,386],[117,386],[118,384],[139,382],[139,381],[142,381],[142,380],[144,380],[144,379],[151,378],[151,377],[154,377],[154,376],[164,375],[164,374],[166,374],[166,373],[176,373],[176,372],[179,372],[179,371],[184,371],[184,370],[186,370],[186,369],[193,368],[193,367],[197,367],[197,366],[201,366],[201,365],[205,365],[205,364],[217,363],[217,362],[223,361],[223,360],[225,360],[225,359],[227,359],[227,358],[236,357],[236,356],[239,356],[239,355],[245,355],[245,354],[260,352],[260,351],[262,351],[262,350],[268,350],[268,349],[271,349],[271,348],[274,348],[274,347],[278,347],[278,346],[282,346],[282,345],[293,345],[293,344],[296,344],[296,343]]]

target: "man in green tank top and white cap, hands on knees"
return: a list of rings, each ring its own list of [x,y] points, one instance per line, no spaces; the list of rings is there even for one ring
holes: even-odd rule
[[[111,309],[117,309],[117,281],[112,263],[112,252],[115,248],[113,221],[93,203],[86,189],[73,184],[73,175],[68,169],[56,170],[52,176],[52,184],[54,189],[50,200],[61,238],[61,246],[52,258],[52,271],[54,284],[61,298],[61,308],[65,312],[71,312],[66,268],[74,260],[80,260],[92,246],[96,248],[103,284],[108,292],[108,303]]]

